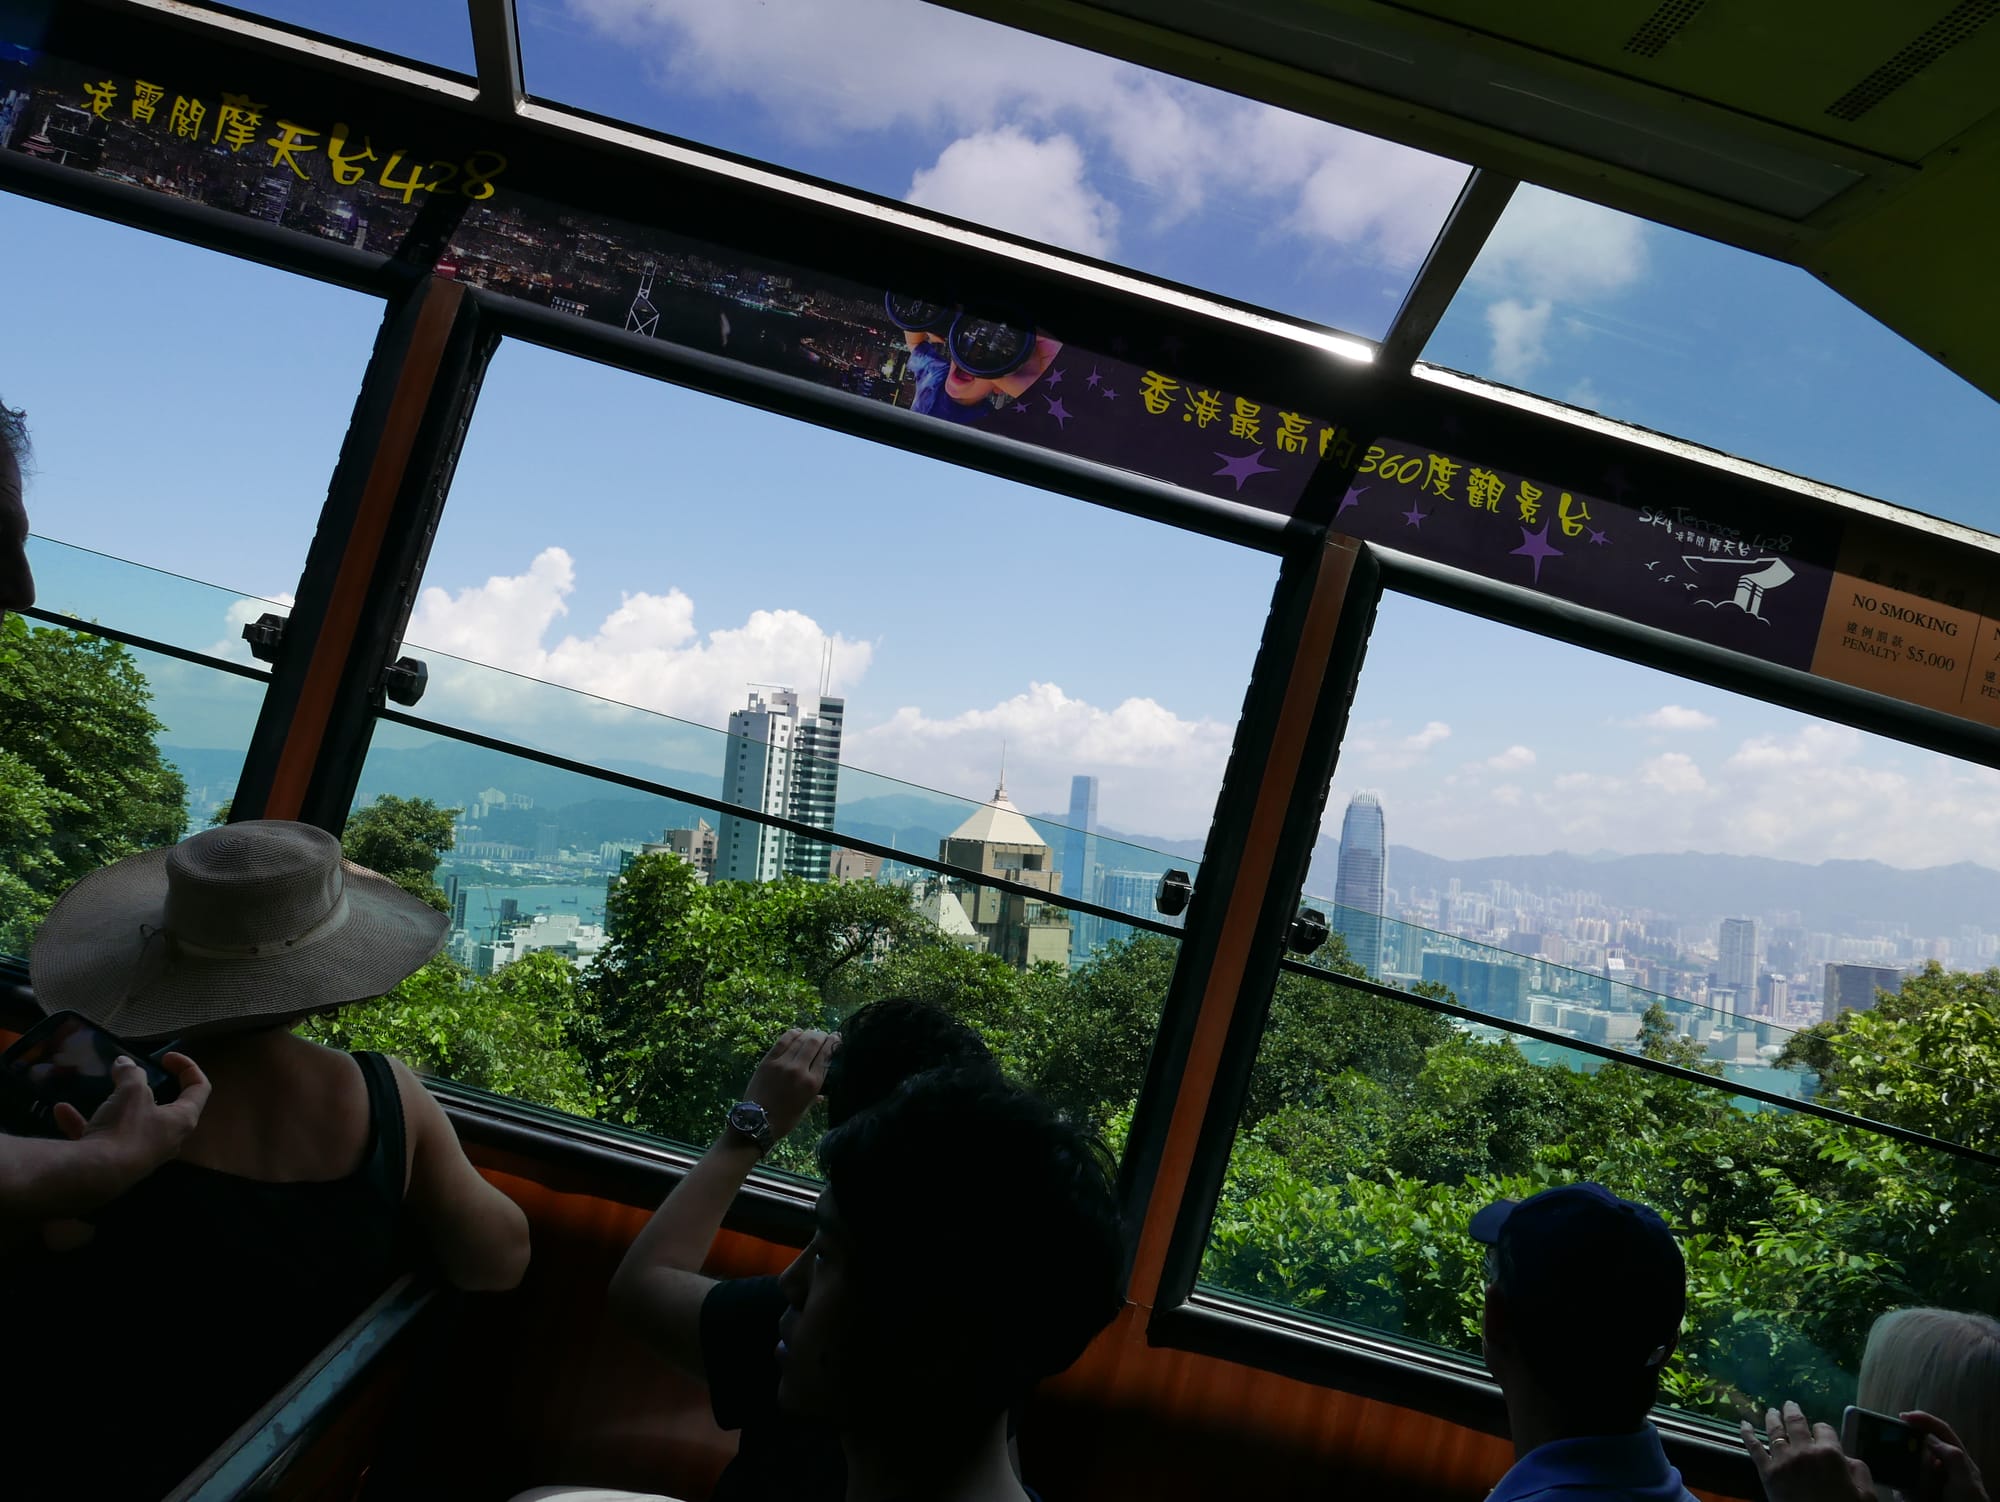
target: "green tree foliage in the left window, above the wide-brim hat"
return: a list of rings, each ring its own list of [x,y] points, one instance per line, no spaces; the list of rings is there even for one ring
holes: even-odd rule
[[[132,652],[0,620],[0,950],[26,954],[76,880],[186,832],[186,784]]]

